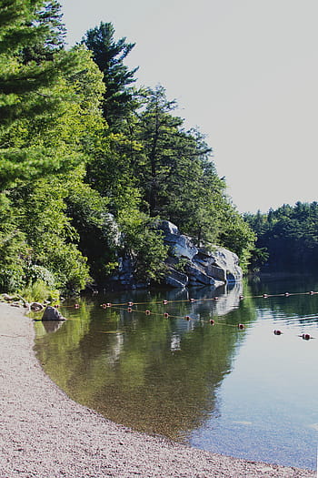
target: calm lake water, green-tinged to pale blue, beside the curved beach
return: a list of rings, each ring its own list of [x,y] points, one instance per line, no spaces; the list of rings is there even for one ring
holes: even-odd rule
[[[212,452],[316,469],[318,294],[310,290],[318,280],[99,295],[80,300],[79,310],[66,303],[69,320],[58,330],[35,322],[35,348],[65,392],[115,422]],[[295,295],[262,297],[285,291]]]

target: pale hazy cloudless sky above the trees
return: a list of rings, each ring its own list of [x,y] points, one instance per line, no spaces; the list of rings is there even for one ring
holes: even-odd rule
[[[318,200],[317,0],[61,0],[74,45],[101,21],[138,84],[199,127],[241,211]]]

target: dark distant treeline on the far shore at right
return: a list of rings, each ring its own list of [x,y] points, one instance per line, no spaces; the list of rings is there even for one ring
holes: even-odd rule
[[[313,271],[318,267],[318,203],[284,204],[267,213],[245,214],[257,236],[252,267]]]

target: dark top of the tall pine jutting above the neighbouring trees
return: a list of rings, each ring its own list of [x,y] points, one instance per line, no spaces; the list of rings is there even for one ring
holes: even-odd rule
[[[82,43],[93,52],[93,59],[104,75],[104,118],[112,129],[117,129],[123,118],[132,109],[134,74],[138,68],[129,70],[124,58],[134,48],[126,38],[114,40],[114,26],[103,23],[88,30]]]

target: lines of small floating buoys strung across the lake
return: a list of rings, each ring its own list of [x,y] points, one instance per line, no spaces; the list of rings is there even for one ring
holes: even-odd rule
[[[270,299],[272,297],[290,297],[290,296],[297,296],[297,295],[309,295],[309,296],[313,296],[313,295],[316,295],[318,294],[317,291],[313,291],[313,290],[310,290],[309,292],[283,292],[283,293],[280,293],[280,294],[261,294],[261,295],[251,295],[251,296],[243,296],[243,295],[240,295],[239,296],[239,300],[244,300],[244,299]],[[162,304],[162,305],[168,305],[168,304],[175,304],[175,303],[180,303],[180,302],[188,302],[188,303],[198,303],[198,302],[206,302],[206,301],[215,301],[215,300],[219,300],[219,297],[212,297],[212,298],[205,298],[205,299],[193,299],[193,298],[190,298],[190,299],[185,299],[185,300],[151,300],[151,301],[146,301],[146,302],[134,302],[134,301],[127,301],[127,302],[121,302],[121,303],[112,303],[112,302],[106,302],[106,303],[103,303],[100,305],[100,307],[102,307],[103,309],[105,310],[115,310],[115,311],[125,311],[125,312],[128,312],[128,313],[142,313],[144,315],[147,315],[147,316],[150,316],[150,315],[153,315],[153,316],[157,316],[157,317],[164,317],[165,319],[182,319],[182,320],[192,320],[192,321],[196,321],[196,322],[205,322],[205,323],[210,323],[210,325],[214,326],[214,325],[224,325],[224,326],[227,326],[227,327],[235,327],[236,329],[238,329],[239,331],[243,331],[245,329],[245,324],[243,323],[237,323],[237,324],[229,324],[229,323],[226,323],[224,321],[220,322],[220,321],[216,321],[214,319],[210,319],[210,320],[202,320],[202,319],[199,319],[199,318],[196,318],[196,317],[193,317],[193,316],[190,316],[190,315],[184,315],[184,316],[180,316],[180,315],[173,315],[173,314],[170,314],[169,312],[167,311],[164,311],[164,312],[154,312],[152,310],[149,310],[149,309],[145,309],[145,310],[139,310],[139,309],[136,309],[134,308],[134,306],[138,306],[138,305],[148,305],[148,304],[152,304],[152,305],[158,305],[158,304]],[[59,307],[59,305],[55,305],[55,307]],[[75,308],[75,309],[80,309],[80,305],[78,303],[75,303],[74,305],[72,306],[63,306],[64,308],[67,307],[67,308]],[[288,318],[287,318],[288,319]],[[291,319],[291,318],[289,318]],[[273,330],[273,334],[274,335],[283,335],[283,331],[280,331],[278,329],[274,329]],[[302,333],[302,334],[299,334],[297,335],[297,337],[301,337],[304,341],[310,341],[311,339],[314,339],[314,337],[312,335],[310,335],[309,333]]]

